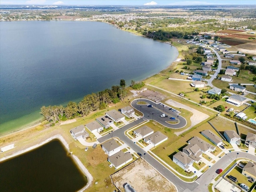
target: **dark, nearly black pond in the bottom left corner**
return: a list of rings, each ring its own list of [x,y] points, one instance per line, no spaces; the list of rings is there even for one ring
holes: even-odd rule
[[[86,176],[57,139],[1,162],[0,172],[4,192],[75,192],[87,184]]]

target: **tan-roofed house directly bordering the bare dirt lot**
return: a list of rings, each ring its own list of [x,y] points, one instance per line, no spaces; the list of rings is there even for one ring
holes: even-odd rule
[[[115,169],[119,169],[128,162],[132,161],[132,154],[130,154],[130,152],[124,153],[122,151],[119,151],[116,154],[108,157],[108,161],[113,164]]]

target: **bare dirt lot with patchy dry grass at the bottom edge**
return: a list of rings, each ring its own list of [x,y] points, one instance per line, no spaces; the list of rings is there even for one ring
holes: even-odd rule
[[[176,187],[141,158],[112,175],[116,187],[124,192],[130,184],[137,192],[177,192]]]

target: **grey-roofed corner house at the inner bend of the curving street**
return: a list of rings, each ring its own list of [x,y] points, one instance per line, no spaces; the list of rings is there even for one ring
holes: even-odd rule
[[[189,170],[189,168],[194,163],[194,160],[192,158],[190,158],[187,154],[181,151],[179,151],[172,157],[172,161],[186,171]]]

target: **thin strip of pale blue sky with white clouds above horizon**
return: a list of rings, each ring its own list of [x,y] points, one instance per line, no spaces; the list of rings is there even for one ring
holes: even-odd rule
[[[0,0],[0,5],[255,5],[255,0]]]

